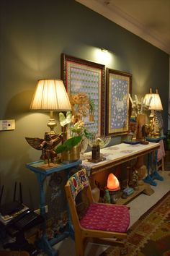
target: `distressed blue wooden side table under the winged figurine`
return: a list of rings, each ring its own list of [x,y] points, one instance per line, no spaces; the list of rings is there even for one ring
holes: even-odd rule
[[[67,163],[67,164],[54,164],[50,163],[50,166],[48,164],[45,164],[44,161],[36,161],[32,163],[27,163],[26,167],[30,169],[30,171],[33,171],[35,175],[37,176],[37,181],[40,186],[40,214],[42,217],[45,218],[45,192],[44,192],[44,182],[47,176],[50,174],[60,172],[60,171],[66,171],[67,174],[69,174],[69,171],[71,168],[79,166],[81,164],[81,161],[75,161],[73,163]],[[68,221],[68,225],[70,222]],[[56,238],[50,239],[48,241],[48,236],[46,234],[46,223],[42,224],[42,237],[40,238],[40,242],[38,243],[39,247],[46,252],[50,256],[56,256],[58,255],[58,251],[53,249],[53,244],[56,244],[66,238],[67,236],[71,235],[71,227],[68,226],[68,231],[63,232],[63,234],[58,235]],[[73,235],[73,234],[72,234]]]

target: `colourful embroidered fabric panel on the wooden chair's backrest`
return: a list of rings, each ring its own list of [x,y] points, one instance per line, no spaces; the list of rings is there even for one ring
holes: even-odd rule
[[[89,179],[86,175],[86,170],[81,169],[81,171],[76,172],[73,174],[70,179],[68,179],[68,184],[71,187],[71,193],[73,196],[73,200],[76,199],[76,196],[81,192],[84,187],[89,186]]]

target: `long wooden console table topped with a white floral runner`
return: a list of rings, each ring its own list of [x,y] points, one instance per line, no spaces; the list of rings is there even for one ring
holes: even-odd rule
[[[91,158],[91,152],[85,153],[84,154],[85,160],[82,161],[81,165],[84,168],[86,168],[89,176],[93,176],[94,174],[97,174],[101,171],[104,172],[109,168],[131,161],[142,155],[151,155],[153,152],[158,150],[158,148],[159,148],[159,144],[153,143],[153,142],[149,142],[148,145],[143,145],[140,143],[135,145],[121,143],[108,148],[102,148],[100,150],[100,153],[106,159],[99,163],[91,163],[90,161],[88,161],[88,159]],[[149,165],[150,165],[150,162],[148,161],[148,170],[150,170]],[[147,193],[147,189],[148,189],[148,193]],[[130,197],[128,197],[128,200],[131,200],[140,192],[146,192],[147,195],[151,195],[151,193],[153,193],[153,190],[152,192],[151,190],[152,189],[149,184],[143,184],[143,186],[140,186],[139,191],[135,191],[133,195],[130,195]],[[128,200],[121,199],[119,203],[123,204],[123,203],[126,203]]]

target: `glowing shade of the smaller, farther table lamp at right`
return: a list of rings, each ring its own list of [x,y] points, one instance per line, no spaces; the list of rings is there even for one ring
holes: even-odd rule
[[[158,111],[163,110],[161,98],[158,95],[158,93],[146,94],[143,101],[146,103],[146,105],[149,105],[149,109],[151,110],[158,110]]]

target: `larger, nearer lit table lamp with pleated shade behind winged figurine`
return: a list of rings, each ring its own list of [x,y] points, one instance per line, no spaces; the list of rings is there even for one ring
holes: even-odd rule
[[[50,134],[55,134],[57,125],[53,111],[71,111],[71,103],[62,80],[41,79],[37,81],[35,93],[30,105],[32,111],[50,111]]]

